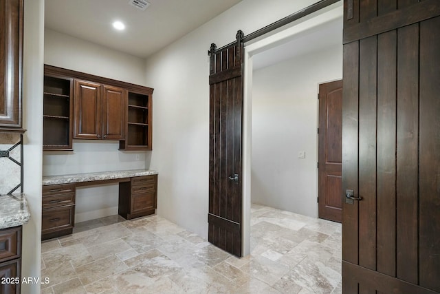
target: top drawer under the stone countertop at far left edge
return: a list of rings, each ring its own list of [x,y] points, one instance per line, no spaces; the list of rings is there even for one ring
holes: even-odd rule
[[[21,256],[21,227],[0,231],[0,262]],[[1,292],[1,291],[0,291]]]

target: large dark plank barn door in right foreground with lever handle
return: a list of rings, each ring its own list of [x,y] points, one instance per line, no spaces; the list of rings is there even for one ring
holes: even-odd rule
[[[440,1],[344,0],[343,293],[440,293]]]

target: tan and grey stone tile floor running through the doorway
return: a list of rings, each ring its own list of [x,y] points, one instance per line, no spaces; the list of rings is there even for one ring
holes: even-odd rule
[[[43,242],[41,293],[341,293],[341,225],[252,204],[236,258],[159,216],[110,216]]]

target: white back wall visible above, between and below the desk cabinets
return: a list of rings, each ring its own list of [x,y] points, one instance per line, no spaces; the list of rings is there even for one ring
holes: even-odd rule
[[[45,30],[44,62],[49,65],[145,85],[144,59]],[[45,151],[43,175],[144,169],[151,151],[119,151],[118,141],[74,140],[74,151]],[[75,222],[118,213],[118,185],[76,190]]]

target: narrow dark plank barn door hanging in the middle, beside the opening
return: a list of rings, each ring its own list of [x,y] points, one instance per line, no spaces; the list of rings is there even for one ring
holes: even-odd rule
[[[241,256],[241,114],[243,32],[210,50],[209,231],[215,246]]]

